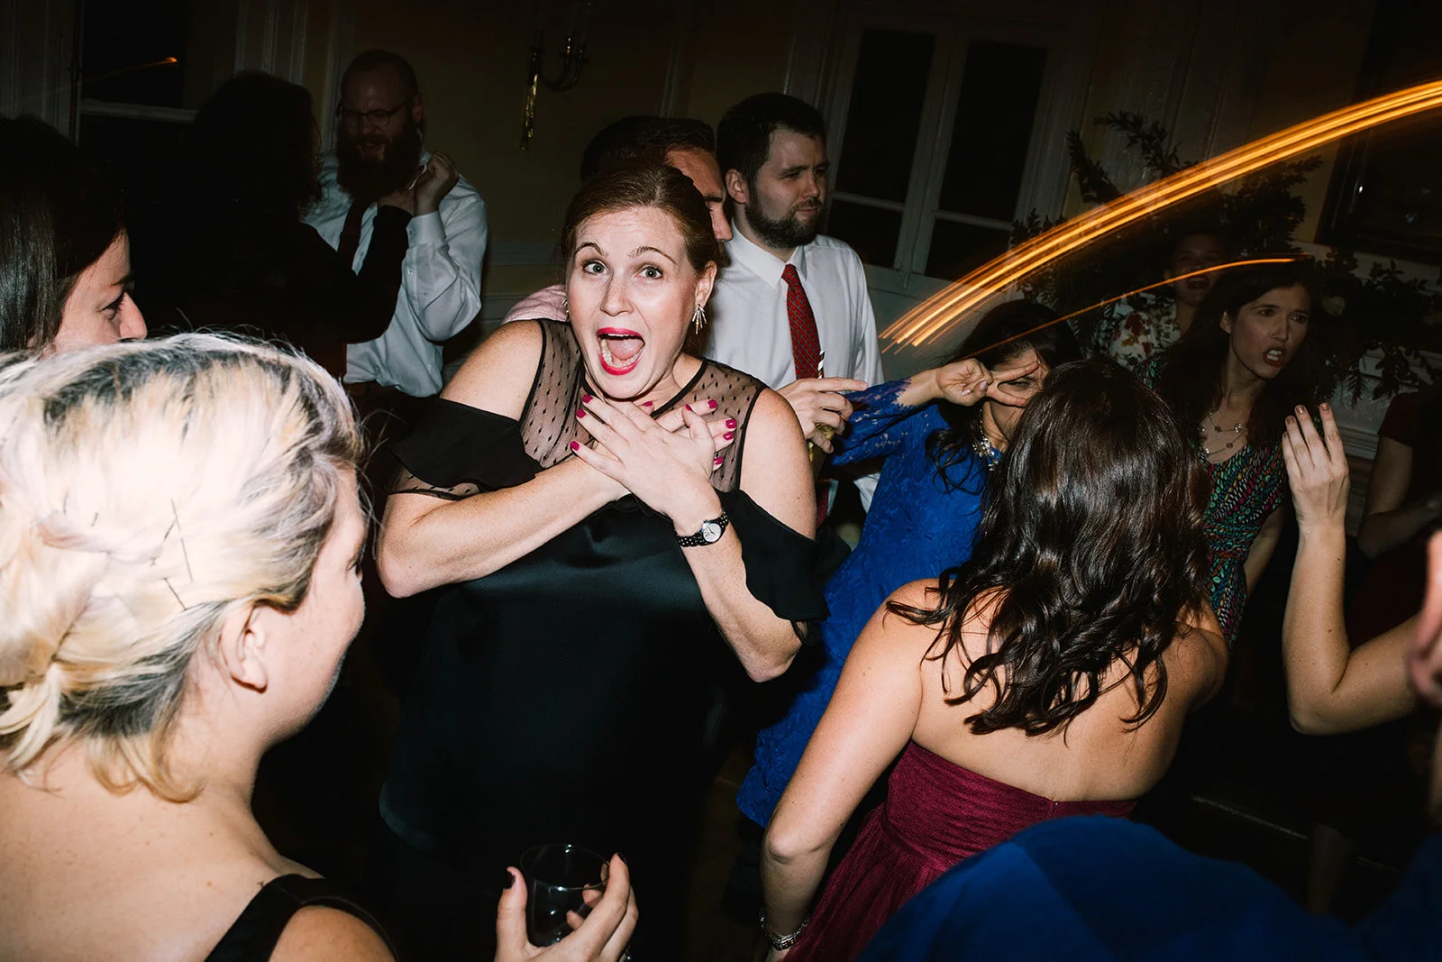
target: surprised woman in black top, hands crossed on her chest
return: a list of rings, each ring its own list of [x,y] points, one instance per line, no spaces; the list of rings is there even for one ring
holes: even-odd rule
[[[676,958],[708,687],[780,675],[825,614],[796,415],[685,350],[720,255],[695,186],[601,175],[561,247],[570,323],[500,327],[397,446],[381,577],[440,588],[381,796],[417,958],[469,958],[545,842],[624,852],[633,958]]]

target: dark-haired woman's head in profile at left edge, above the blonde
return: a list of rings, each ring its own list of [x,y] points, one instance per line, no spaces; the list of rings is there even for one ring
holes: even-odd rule
[[[0,117],[0,352],[146,336],[120,195],[35,117]]]

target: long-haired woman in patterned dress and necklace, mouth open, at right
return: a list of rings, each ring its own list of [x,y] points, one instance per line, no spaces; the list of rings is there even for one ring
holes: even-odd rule
[[[1322,400],[1318,303],[1304,261],[1229,271],[1191,330],[1142,372],[1178,420],[1195,425],[1193,444],[1211,477],[1211,606],[1229,643],[1282,531],[1286,417]]]

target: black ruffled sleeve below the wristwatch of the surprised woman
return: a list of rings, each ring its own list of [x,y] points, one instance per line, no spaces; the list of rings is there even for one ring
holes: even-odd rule
[[[803,642],[818,639],[818,632],[803,626],[826,617],[823,590],[826,578],[845,560],[845,542],[812,541],[797,534],[741,489],[717,495],[741,539],[741,564],[751,597],[796,625]]]

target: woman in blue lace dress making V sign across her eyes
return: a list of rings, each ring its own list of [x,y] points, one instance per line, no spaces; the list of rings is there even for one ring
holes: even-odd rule
[[[786,715],[756,740],[737,795],[766,825],[820,721],[851,643],[895,588],[966,561],[991,469],[1047,372],[1079,361],[1067,325],[1030,301],[994,307],[940,368],[849,395],[855,412],[832,464],[885,459],[861,541],[826,583],[825,659]],[[979,402],[979,404],[978,404]]]

